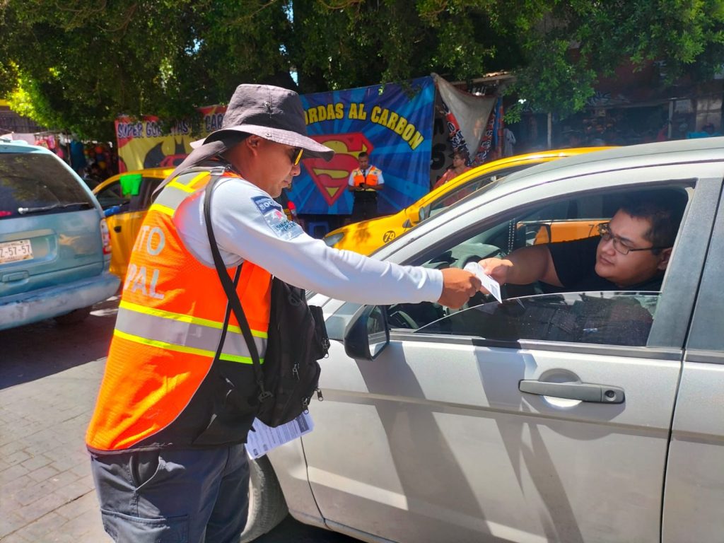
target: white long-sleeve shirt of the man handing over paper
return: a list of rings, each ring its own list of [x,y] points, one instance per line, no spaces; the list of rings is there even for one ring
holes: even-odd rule
[[[213,268],[203,199],[203,190],[187,198],[174,224],[188,250]],[[355,303],[434,302],[442,294],[441,271],[328,247],[287,220],[282,206],[246,180],[231,177],[216,183],[211,217],[228,267],[248,260],[291,285]]]

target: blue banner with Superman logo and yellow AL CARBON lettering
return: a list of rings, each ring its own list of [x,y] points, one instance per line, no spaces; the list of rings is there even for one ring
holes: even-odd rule
[[[369,153],[382,170],[379,214],[392,214],[430,189],[435,87],[432,77],[399,84],[303,95],[311,138],[335,151],[334,159],[303,159],[289,191],[299,214],[350,214],[350,172]]]

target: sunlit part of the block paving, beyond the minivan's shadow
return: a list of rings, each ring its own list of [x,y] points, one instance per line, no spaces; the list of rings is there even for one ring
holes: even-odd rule
[[[84,445],[104,362],[0,390],[2,543],[111,542]]]

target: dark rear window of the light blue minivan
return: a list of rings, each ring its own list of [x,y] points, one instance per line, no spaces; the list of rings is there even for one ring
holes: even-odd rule
[[[0,153],[0,220],[94,206],[93,198],[56,157]]]

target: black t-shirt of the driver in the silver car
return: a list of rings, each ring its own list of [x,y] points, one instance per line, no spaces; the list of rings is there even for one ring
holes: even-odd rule
[[[662,272],[638,285],[618,287],[596,273],[596,249],[600,236],[586,237],[582,240],[549,243],[553,265],[558,279],[566,292],[586,292],[595,290],[640,290],[660,291],[664,277]],[[562,292],[560,287],[557,292]]]

